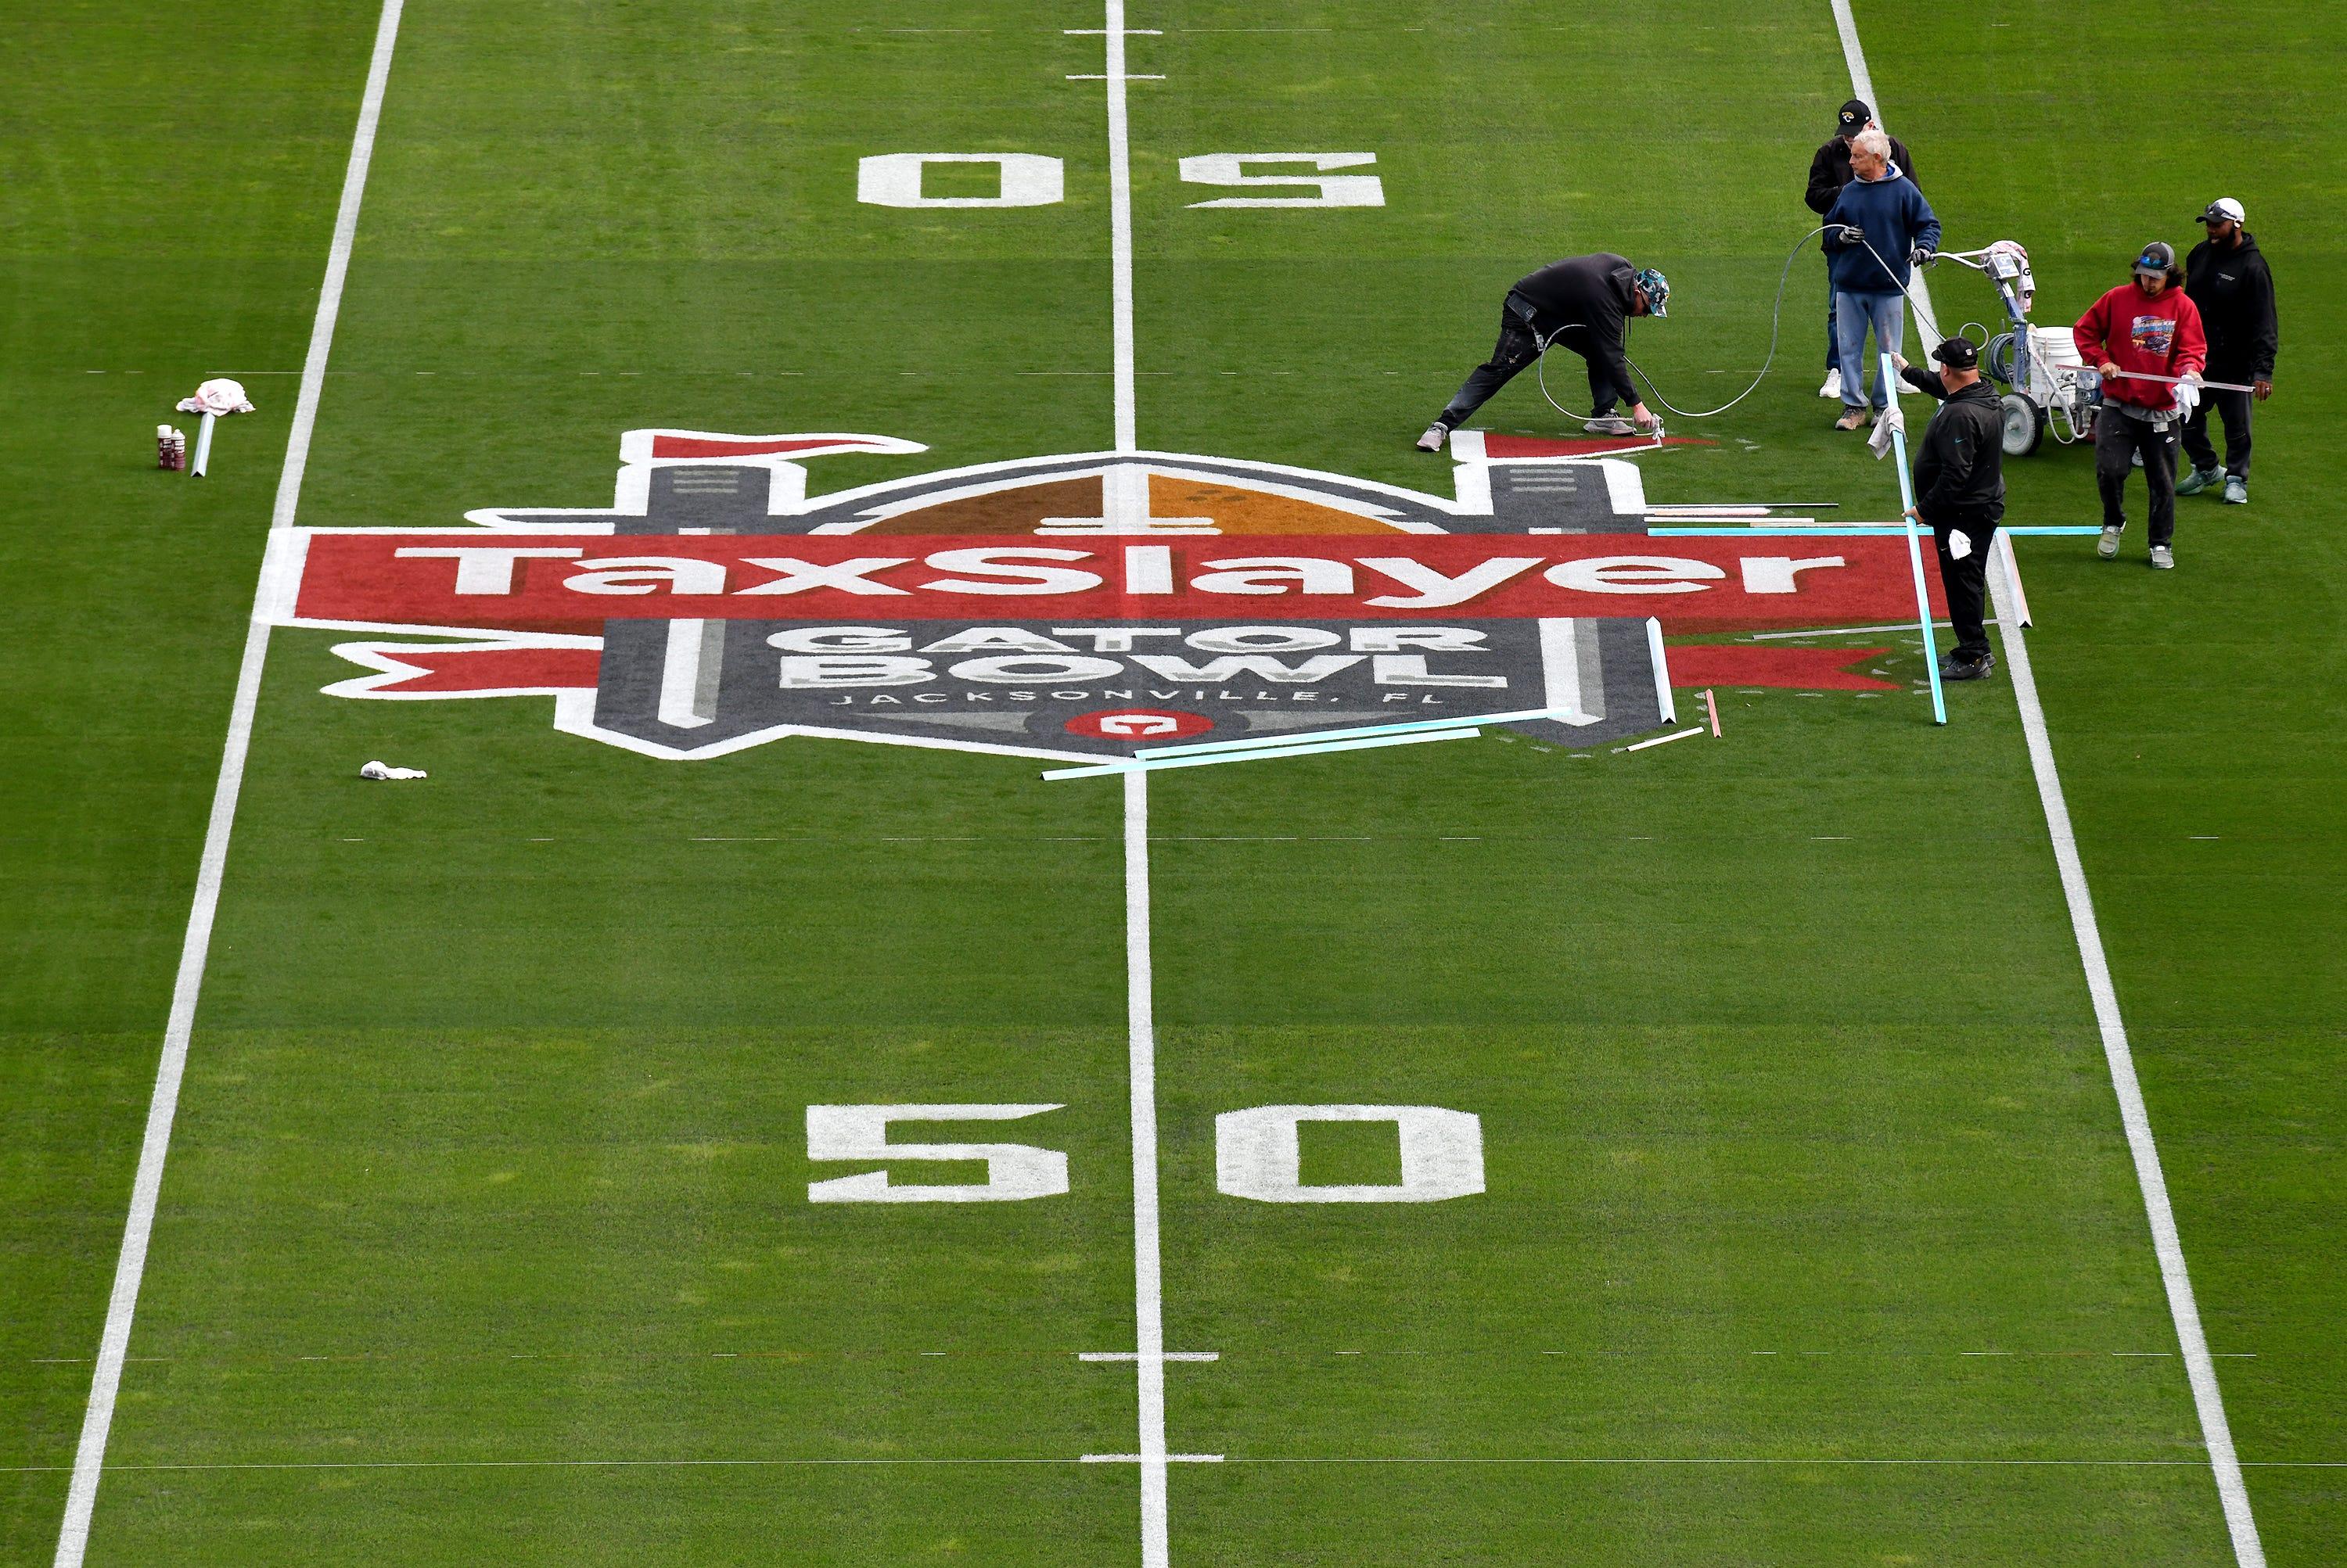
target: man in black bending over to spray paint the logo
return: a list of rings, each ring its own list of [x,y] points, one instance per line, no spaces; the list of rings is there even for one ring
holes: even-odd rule
[[[1418,451],[1439,453],[1450,432],[1540,359],[1542,345],[1551,340],[1589,361],[1589,423],[1582,430],[1594,437],[1626,437],[1631,420],[1638,430],[1652,430],[1655,415],[1629,383],[1624,345],[1629,319],[1671,315],[1669,298],[1671,284],[1662,272],[1634,268],[1626,256],[1612,251],[1565,256],[1519,277],[1500,305],[1500,347],[1467,376],[1450,406],[1418,437]],[[1615,413],[1619,399],[1629,399],[1631,420]]]

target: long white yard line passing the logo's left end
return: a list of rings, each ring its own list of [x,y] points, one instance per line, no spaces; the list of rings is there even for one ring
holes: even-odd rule
[[[310,430],[317,423],[319,387],[326,380],[326,352],[333,347],[333,322],[343,307],[343,279],[350,272],[350,246],[359,230],[359,200],[366,195],[366,167],[376,153],[376,122],[383,115],[383,89],[392,73],[392,45],[399,40],[401,0],[383,0],[376,23],[376,52],[366,66],[366,92],[359,99],[359,124],[350,138],[350,164],[343,171],[343,204],[333,216],[333,242],[326,251],[326,279],[310,324],[310,354],[303,359],[300,394],[293,401],[293,425],[286,434],[286,462],[277,479],[277,505],[270,530],[293,526],[300,502],[303,469],[310,465]],[[73,1453],[73,1481],[66,1488],[66,1519],[56,1533],[56,1568],[80,1568],[89,1549],[89,1519],[99,1505],[99,1476],[106,1467],[106,1439],[115,1420],[115,1394],[122,1387],[122,1359],[129,1354],[131,1319],[138,1314],[138,1282],[146,1275],[148,1239],[155,1232],[155,1204],[162,1195],[162,1167],[171,1153],[171,1120],[178,1113],[178,1084],[188,1068],[188,1035],[195,1028],[195,1005],[204,988],[204,958],[211,951],[211,920],[221,906],[221,876],[228,869],[228,836],[237,822],[237,796],[244,786],[244,756],[253,739],[253,709],[261,702],[261,667],[268,660],[268,596],[272,582],[263,573],[253,592],[253,615],[244,629],[244,657],[237,664],[237,695],[228,709],[228,742],[221,749],[221,777],[211,789],[211,819],[204,826],[204,852],[195,869],[195,899],[188,908],[188,937],[178,951],[178,976],[171,981],[171,1014],[164,1023],[162,1059],[155,1063],[155,1091],[148,1099],[146,1136],[138,1143],[138,1174],[131,1181],[131,1209],[122,1223],[122,1253],[115,1261],[115,1289],[106,1303],[106,1329],[99,1336],[99,1364],[89,1380],[89,1406],[82,1413],[82,1441]]]

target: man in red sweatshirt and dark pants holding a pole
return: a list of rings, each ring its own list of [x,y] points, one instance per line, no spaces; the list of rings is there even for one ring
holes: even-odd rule
[[[2077,352],[2103,373],[2103,411],[2094,420],[2094,481],[2103,491],[2103,538],[2094,554],[2115,561],[2126,528],[2126,469],[2143,462],[2152,495],[2152,566],[2176,566],[2176,441],[2199,406],[2199,371],[2209,336],[2185,293],[2176,249],[2152,239],[2136,256],[2136,282],[2098,298],[2070,329]],[[2133,376],[2131,376],[2133,373]],[[2169,376],[2176,380],[2138,380]]]

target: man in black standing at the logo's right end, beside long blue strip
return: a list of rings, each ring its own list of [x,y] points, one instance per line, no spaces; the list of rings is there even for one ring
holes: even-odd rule
[[[1981,622],[1988,601],[1988,542],[2004,516],[2004,408],[1981,380],[1981,350],[1943,338],[1939,371],[1899,364],[1899,380],[1939,399],[1915,451],[1913,516],[1939,542],[1939,587],[1948,596],[1955,650],[1939,662],[1941,681],[1979,681],[1997,667]]]

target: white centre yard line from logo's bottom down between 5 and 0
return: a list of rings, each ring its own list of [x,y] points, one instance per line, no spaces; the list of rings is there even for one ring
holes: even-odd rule
[[[1150,779],[1124,775],[1124,1052],[1134,1122],[1134,1378],[1141,1568],[1166,1568],[1166,1324],[1157,1246],[1157,1005],[1150,967]]]

